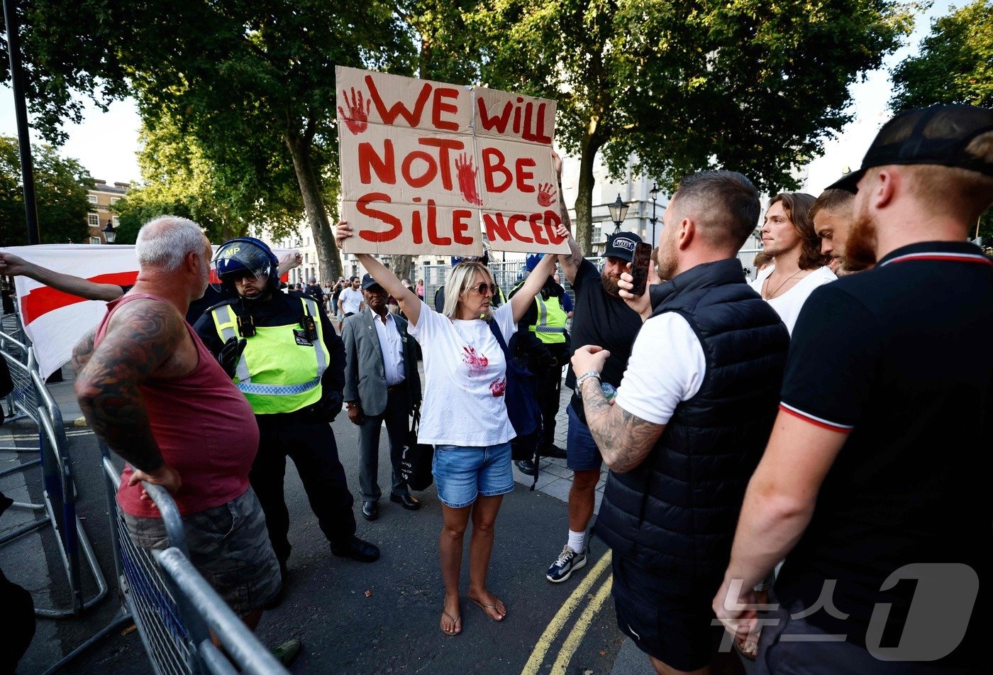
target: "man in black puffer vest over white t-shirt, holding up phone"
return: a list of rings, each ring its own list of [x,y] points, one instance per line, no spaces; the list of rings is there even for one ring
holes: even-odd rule
[[[759,212],[739,173],[684,178],[659,238],[667,281],[638,297],[622,276],[621,295],[646,321],[616,405],[599,383],[607,352],[588,346],[572,359],[611,468],[594,534],[614,551],[618,625],[660,673],[719,665],[710,600],[779,405],[789,336],[736,257]]]

